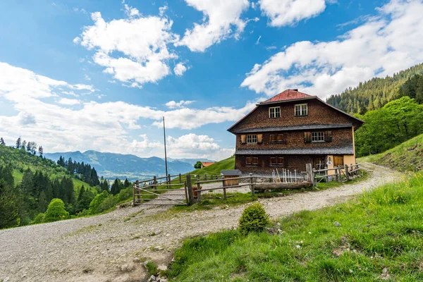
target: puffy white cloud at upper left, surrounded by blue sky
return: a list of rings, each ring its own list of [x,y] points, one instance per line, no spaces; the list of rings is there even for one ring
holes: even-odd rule
[[[178,58],[167,46],[179,39],[171,32],[173,22],[164,16],[141,16],[127,4],[125,14],[127,18],[107,22],[101,13],[92,13],[94,25],[84,27],[74,42],[95,49],[94,63],[126,86],[161,80],[170,74],[168,60]]]

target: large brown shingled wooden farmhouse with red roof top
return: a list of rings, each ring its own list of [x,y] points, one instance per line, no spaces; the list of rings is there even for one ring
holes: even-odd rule
[[[271,173],[355,164],[354,131],[363,123],[317,96],[285,90],[228,129],[236,135],[235,168]]]

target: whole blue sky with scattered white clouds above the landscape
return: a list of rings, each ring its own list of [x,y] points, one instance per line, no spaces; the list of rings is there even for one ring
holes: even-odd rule
[[[222,159],[286,88],[325,98],[423,61],[417,1],[2,1],[0,136],[45,152]]]

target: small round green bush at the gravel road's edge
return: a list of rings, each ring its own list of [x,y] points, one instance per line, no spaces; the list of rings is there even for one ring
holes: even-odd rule
[[[257,202],[244,209],[240,218],[239,230],[240,233],[246,235],[252,231],[263,231],[269,224],[269,215],[266,214],[262,204]]]

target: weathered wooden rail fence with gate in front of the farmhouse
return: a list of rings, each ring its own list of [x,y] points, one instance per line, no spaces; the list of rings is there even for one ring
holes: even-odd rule
[[[290,178],[290,182],[279,182],[274,180],[274,176],[240,176],[231,178],[231,180],[240,181],[237,185],[227,185],[227,180],[222,178],[220,175],[210,174],[177,174],[157,178],[154,176],[152,179],[137,180],[133,185],[133,204],[193,204],[200,202],[202,198],[202,192],[223,190],[223,200],[226,200],[226,190],[241,188],[248,186],[251,191],[252,198],[255,197],[255,191],[259,190],[287,190],[287,189],[300,189],[312,186],[317,186],[317,183],[325,180],[329,183],[330,180],[336,180],[339,182],[345,182],[357,176],[360,173],[360,164],[350,164],[350,166],[339,166],[336,168],[324,168],[324,169],[312,169],[312,164],[307,164],[307,175],[305,178],[295,174],[295,178]],[[185,177],[185,179],[183,179]],[[257,178],[269,178],[269,182],[257,183]],[[272,181],[274,181],[272,183]],[[219,187],[215,188],[204,188],[202,184],[219,183]],[[175,193],[171,193],[171,192]],[[179,191],[179,192],[178,192]],[[183,191],[183,192],[182,192]],[[162,195],[166,192],[165,195]],[[197,194],[197,196],[195,196]],[[173,196],[173,197],[169,197]],[[179,196],[179,197],[178,197]],[[174,198],[178,197],[178,198]],[[152,202],[150,202],[152,201]],[[154,203],[154,201],[161,201]]]

